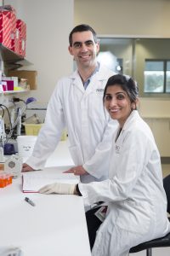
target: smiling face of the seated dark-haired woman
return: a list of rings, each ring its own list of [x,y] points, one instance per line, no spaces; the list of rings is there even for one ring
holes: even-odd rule
[[[135,103],[130,102],[127,92],[122,90],[121,85],[114,84],[108,86],[105,93],[105,108],[110,113],[112,119],[116,119],[122,127],[127,117],[135,108]]]

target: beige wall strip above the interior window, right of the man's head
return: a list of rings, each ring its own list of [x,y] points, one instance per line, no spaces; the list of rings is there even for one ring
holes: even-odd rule
[[[75,24],[98,34],[170,37],[168,0],[75,0]]]

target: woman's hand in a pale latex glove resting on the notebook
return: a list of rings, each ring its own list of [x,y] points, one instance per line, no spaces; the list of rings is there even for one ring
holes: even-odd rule
[[[47,186],[42,187],[38,190],[42,194],[65,194],[65,195],[74,195],[76,190],[76,184],[68,183],[53,183],[48,184]]]

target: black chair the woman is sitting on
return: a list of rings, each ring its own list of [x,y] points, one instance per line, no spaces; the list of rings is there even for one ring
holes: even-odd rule
[[[170,175],[164,177],[163,186],[167,195],[167,212],[170,213]],[[152,248],[156,247],[170,247],[170,233],[168,233],[167,236],[140,243],[138,246],[132,247],[129,253],[138,253],[146,250],[146,256],[151,256]]]

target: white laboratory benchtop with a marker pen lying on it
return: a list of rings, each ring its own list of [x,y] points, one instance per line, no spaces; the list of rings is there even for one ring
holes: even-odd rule
[[[62,167],[37,172],[69,169],[72,162],[66,143],[60,142],[59,146],[46,166],[57,162]],[[24,200],[26,196],[35,207]],[[20,247],[24,256],[91,255],[82,197],[22,193],[20,177],[0,189],[0,206],[0,247]]]

